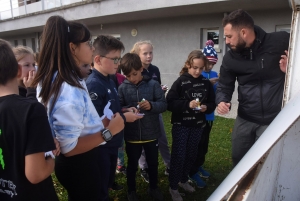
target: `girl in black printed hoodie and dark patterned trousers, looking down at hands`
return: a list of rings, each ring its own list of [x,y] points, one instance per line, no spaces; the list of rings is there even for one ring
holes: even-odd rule
[[[197,156],[198,143],[205,127],[205,114],[215,110],[215,94],[210,81],[201,75],[207,59],[200,50],[192,51],[180,77],[167,94],[168,110],[172,112],[172,153],[169,175],[173,200],[182,200],[179,186],[195,189],[188,183],[188,174]]]

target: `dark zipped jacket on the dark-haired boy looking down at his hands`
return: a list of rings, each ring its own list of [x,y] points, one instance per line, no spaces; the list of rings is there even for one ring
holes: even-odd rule
[[[127,79],[119,86],[121,106],[136,107],[143,98],[151,104],[151,110],[141,110],[145,116],[132,123],[126,123],[124,138],[126,141],[146,141],[160,137],[159,114],[166,111],[167,102],[159,83],[143,76],[138,84],[132,84]]]

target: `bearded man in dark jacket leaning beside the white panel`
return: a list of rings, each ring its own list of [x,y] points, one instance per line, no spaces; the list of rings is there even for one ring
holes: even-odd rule
[[[217,112],[226,114],[238,81],[238,116],[232,132],[235,166],[281,110],[289,34],[266,33],[239,9],[223,19],[230,50],[220,69]]]

